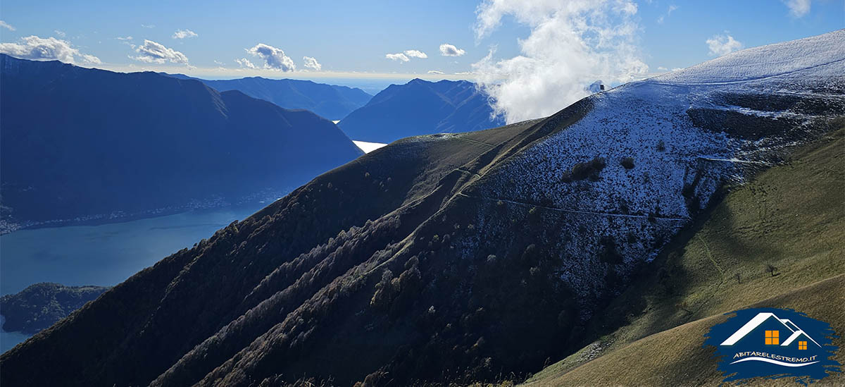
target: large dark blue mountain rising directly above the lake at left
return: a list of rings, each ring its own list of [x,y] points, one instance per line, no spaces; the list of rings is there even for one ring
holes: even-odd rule
[[[194,79],[0,55],[3,229],[278,198],[363,152],[331,121]]]

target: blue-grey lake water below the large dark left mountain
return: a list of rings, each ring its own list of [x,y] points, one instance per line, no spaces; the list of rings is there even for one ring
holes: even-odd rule
[[[0,236],[0,294],[17,293],[37,282],[117,285],[264,205],[195,210],[99,226],[20,230]],[[28,337],[0,330],[2,352]]]

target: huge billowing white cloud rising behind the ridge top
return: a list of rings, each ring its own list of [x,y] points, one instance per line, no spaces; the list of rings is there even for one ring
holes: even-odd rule
[[[491,105],[508,123],[546,117],[585,97],[596,79],[608,84],[645,76],[636,45],[640,27],[630,0],[487,0],[477,9],[477,40],[512,16],[531,29],[521,55],[472,64]]]

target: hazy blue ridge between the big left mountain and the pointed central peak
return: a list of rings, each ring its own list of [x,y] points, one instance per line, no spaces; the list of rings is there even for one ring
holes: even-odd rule
[[[361,89],[335,84],[318,84],[310,80],[241,79],[210,80],[167,74],[179,79],[197,79],[218,91],[238,90],[259,100],[270,101],[286,109],[305,109],[320,117],[340,120],[373,98]]]

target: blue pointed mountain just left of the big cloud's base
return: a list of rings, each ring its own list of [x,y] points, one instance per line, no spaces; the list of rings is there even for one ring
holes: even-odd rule
[[[466,80],[391,84],[338,126],[351,139],[390,143],[421,134],[458,133],[495,128],[489,96]]]

